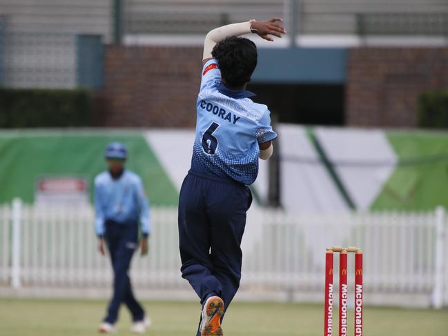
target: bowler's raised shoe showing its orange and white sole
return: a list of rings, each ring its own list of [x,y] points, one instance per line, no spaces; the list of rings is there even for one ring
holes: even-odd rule
[[[202,308],[201,336],[222,336],[222,315],[224,301],[220,297],[209,297]]]

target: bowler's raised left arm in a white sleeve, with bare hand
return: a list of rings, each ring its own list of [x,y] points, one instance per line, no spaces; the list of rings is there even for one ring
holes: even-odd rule
[[[211,52],[216,44],[228,36],[241,36],[253,32],[267,41],[274,40],[271,35],[281,38],[282,34],[286,33],[286,30],[277,22],[283,22],[283,19],[274,17],[266,21],[251,20],[242,23],[232,23],[211,30],[205,37],[202,64],[204,65],[206,61],[212,58]]]

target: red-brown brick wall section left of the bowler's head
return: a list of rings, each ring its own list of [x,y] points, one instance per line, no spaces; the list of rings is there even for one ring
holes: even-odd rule
[[[108,46],[101,124],[194,127],[202,48]]]

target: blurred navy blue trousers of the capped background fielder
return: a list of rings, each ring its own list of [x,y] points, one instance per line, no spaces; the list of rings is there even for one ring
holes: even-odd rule
[[[138,246],[138,224],[118,224],[106,221],[106,242],[114,273],[114,292],[104,322],[114,324],[118,319],[121,303],[128,307],[133,321],[144,319],[144,310],[133,295],[128,270]]]

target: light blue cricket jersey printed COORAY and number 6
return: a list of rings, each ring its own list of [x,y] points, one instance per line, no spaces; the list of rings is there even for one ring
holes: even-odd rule
[[[215,59],[204,64],[191,170],[253,184],[258,175],[258,144],[277,137],[267,106],[251,101],[253,96],[226,88]]]

